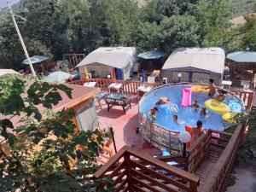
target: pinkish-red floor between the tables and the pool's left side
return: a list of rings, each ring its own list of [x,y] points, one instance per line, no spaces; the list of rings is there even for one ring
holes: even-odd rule
[[[117,150],[127,145],[147,154],[160,155],[160,150],[151,147],[146,141],[143,141],[143,145],[139,142],[141,139],[136,133],[139,125],[137,99],[134,99],[131,108],[126,109],[126,114],[120,106],[110,108],[108,112],[105,104],[102,104],[102,109],[99,109],[97,113],[101,128],[113,127]]]

